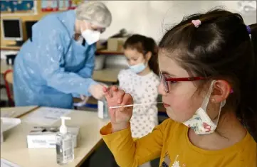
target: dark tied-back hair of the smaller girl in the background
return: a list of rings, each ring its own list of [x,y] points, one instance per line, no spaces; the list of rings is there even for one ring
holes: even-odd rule
[[[123,47],[124,49],[136,49],[137,52],[142,53],[144,56],[148,52],[152,53],[148,65],[155,74],[159,75],[159,67],[157,63],[158,47],[154,39],[135,34],[127,38]]]

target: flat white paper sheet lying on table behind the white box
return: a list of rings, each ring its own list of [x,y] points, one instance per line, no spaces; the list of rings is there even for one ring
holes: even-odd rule
[[[40,107],[28,114],[22,121],[33,124],[51,125],[58,121],[60,117],[65,116],[70,112],[72,112],[71,109]]]

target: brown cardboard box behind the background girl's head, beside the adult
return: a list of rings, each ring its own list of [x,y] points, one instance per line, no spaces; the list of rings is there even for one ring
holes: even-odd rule
[[[107,41],[107,50],[122,52],[126,40],[127,38],[109,38]]]

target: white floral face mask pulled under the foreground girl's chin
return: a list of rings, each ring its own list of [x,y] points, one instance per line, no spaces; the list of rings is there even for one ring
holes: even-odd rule
[[[201,107],[196,110],[194,116],[183,122],[186,126],[194,129],[196,134],[211,134],[215,131],[217,124],[219,122],[219,115],[221,114],[221,108],[226,104],[226,100],[221,102],[219,107],[219,115],[216,122],[213,122],[209,115],[206,113],[207,105],[209,103],[209,99],[211,97],[211,92],[213,90],[214,81],[211,82],[211,87],[209,88],[206,97],[204,97],[204,102],[201,104]]]

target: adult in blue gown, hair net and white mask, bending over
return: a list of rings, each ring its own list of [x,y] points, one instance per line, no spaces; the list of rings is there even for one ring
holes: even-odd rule
[[[101,99],[103,85],[91,78],[95,43],[111,20],[105,4],[86,1],[34,24],[14,63],[15,105],[70,109],[74,96]]]

